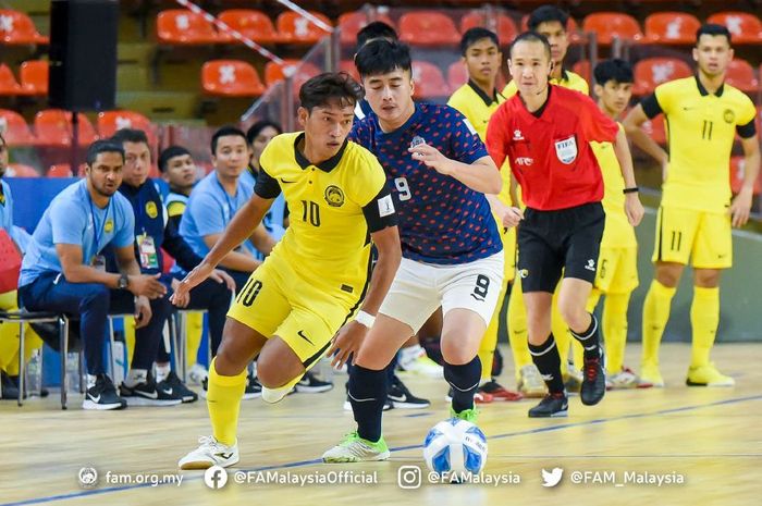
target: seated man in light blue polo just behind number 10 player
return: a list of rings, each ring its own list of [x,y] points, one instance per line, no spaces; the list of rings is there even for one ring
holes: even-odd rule
[[[194,187],[180,224],[180,234],[199,257],[209,252],[235,212],[254,194],[253,185],[241,182],[249,159],[246,134],[233,126],[223,126],[211,137],[211,152],[214,170]],[[244,286],[274,245],[275,240],[260,225],[248,240],[220,262],[235,280],[236,289]]]

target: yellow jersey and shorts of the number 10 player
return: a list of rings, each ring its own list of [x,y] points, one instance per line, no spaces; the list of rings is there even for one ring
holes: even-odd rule
[[[309,369],[365,295],[371,244],[362,208],[386,177],[376,157],[351,141],[312,165],[296,149],[303,136],[279,135],[262,152],[261,170],[278,180],[291,224],[228,316],[278,335]]]

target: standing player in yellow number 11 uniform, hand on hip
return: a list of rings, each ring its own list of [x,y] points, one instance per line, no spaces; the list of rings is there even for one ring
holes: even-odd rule
[[[732,386],[734,379],[722,374],[709,355],[720,323],[720,274],[733,263],[730,229],[749,219],[760,170],[755,110],[749,97],[724,82],[733,60],[730,33],[725,26],[705,24],[699,28],[693,60],[698,75],[657,86],[624,122],[632,141],[664,169],[653,251],[656,273],[643,303],[640,372],[643,380],[664,385],[659,344],[669,319],[672,297],[690,259],[693,336],[686,382]],[[668,155],[639,127],[661,112],[668,125]],[[741,139],[746,172],[739,194],[732,198],[728,171],[736,134]]]

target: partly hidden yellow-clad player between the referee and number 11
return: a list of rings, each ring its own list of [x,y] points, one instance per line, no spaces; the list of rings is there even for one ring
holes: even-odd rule
[[[598,107],[609,118],[616,120],[627,108],[632,96],[632,66],[619,59],[605,60],[593,72]],[[609,388],[636,388],[651,386],[643,383],[624,366],[627,343],[627,308],[629,298],[638,287],[638,242],[635,229],[625,214],[625,180],[611,143],[590,143],[603,174],[603,210],[606,225],[598,257],[598,272],[588,311],[605,296],[601,330],[606,346],[606,386]]]

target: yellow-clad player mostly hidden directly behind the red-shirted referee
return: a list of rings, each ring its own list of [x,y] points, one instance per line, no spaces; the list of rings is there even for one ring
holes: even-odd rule
[[[590,91],[588,83],[581,76],[564,69],[564,59],[566,58],[566,50],[569,47],[568,35],[566,33],[568,20],[569,15],[557,7],[542,5],[534,9],[531,14],[529,14],[527,23],[530,30],[543,35],[551,45],[552,70],[549,82],[588,95]],[[516,84],[513,81],[505,86],[503,95],[506,99],[516,95]],[[506,171],[504,168],[501,173],[508,173],[509,175],[511,171]],[[514,201],[516,201],[519,207],[524,208],[519,188],[516,188]],[[513,257],[515,258],[515,256],[516,250],[514,243]],[[512,264],[515,266],[515,263],[514,260]],[[562,360],[566,360],[569,355],[572,342],[577,343],[577,341],[572,340],[568,328],[558,312],[558,306],[556,304],[557,297],[558,289],[556,288],[553,295],[552,329],[561,358]],[[531,355],[529,355],[529,346],[527,344],[527,308],[524,305],[521,283],[515,283],[511,288],[507,318],[511,351],[514,356],[518,388],[527,397],[543,397],[546,390],[545,383],[542,381],[540,372],[532,363]],[[577,368],[579,368],[582,363],[582,347],[577,343],[574,345],[574,351],[575,363],[577,363]],[[562,371],[565,371],[564,375],[566,378],[567,390],[578,392],[582,384],[581,373],[573,368],[566,371],[564,367],[562,367]]]

